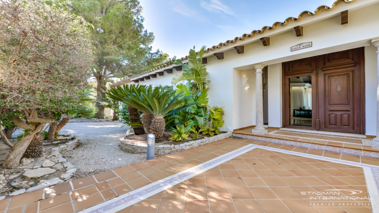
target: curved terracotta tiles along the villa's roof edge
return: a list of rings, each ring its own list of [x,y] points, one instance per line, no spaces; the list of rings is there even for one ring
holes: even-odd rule
[[[218,45],[215,45],[215,46],[212,46],[211,48],[207,48],[205,50],[206,53],[208,53],[209,51],[214,51],[215,49],[221,49],[223,46],[227,46],[229,44],[235,44],[237,41],[239,40],[244,40],[246,37],[253,37],[255,34],[262,34],[264,33],[266,30],[274,30],[277,26],[285,26],[287,25],[290,21],[299,21],[302,19],[302,17],[305,15],[305,14],[308,14],[309,16],[314,16],[316,13],[318,13],[319,11],[321,11],[321,9],[324,9],[324,10],[330,10],[332,8],[335,8],[335,6],[337,5],[338,2],[345,2],[345,3],[351,3],[351,2],[354,2],[356,0],[336,0],[332,6],[326,6],[326,5],[321,5],[319,7],[316,8],[315,12],[312,13],[310,11],[303,11],[302,13],[299,14],[299,16],[297,18],[295,17],[288,17],[287,19],[284,20],[284,22],[275,22],[271,27],[268,27],[268,26],[265,26],[263,27],[261,30],[253,30],[251,33],[247,34],[247,33],[244,33],[241,37],[236,37],[234,38],[233,40],[227,40],[226,42],[224,43],[219,43]],[[180,58],[180,60],[184,61],[184,60],[187,60],[188,59],[188,56],[185,56],[185,57],[182,57]],[[145,75],[147,73],[150,73],[150,72],[154,72],[155,70],[158,70],[158,69],[161,69],[161,68],[164,68],[164,67],[167,67],[167,66],[170,66],[174,63],[174,61],[171,61],[167,64],[163,64],[161,66],[158,66],[158,67],[155,67],[153,69],[150,69],[150,70],[147,70],[145,72],[141,72],[140,74],[137,74],[137,75],[133,75],[132,77],[129,77],[125,80],[122,80],[122,81],[119,81],[119,82],[116,82],[114,83],[113,85],[110,85],[111,87],[116,87],[116,86],[119,86],[119,85],[123,85],[123,84],[126,84],[126,83],[130,83],[132,81],[130,81],[130,79],[132,78],[135,78],[135,77],[138,77],[140,75]]]

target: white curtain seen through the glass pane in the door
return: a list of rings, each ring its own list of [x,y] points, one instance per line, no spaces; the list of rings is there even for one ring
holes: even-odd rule
[[[312,110],[312,88],[290,87],[291,97],[291,116],[293,110],[299,110],[300,107],[309,107]]]

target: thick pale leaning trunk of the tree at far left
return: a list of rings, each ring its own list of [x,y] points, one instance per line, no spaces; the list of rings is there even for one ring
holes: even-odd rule
[[[21,157],[23,153],[25,153],[25,150],[28,148],[31,140],[34,138],[34,135],[44,126],[44,123],[38,125],[37,128],[35,128],[33,131],[30,131],[29,133],[26,133],[21,140],[17,141],[17,143],[14,144],[12,152],[8,155],[8,157],[5,158],[3,167],[16,168],[20,164]]]

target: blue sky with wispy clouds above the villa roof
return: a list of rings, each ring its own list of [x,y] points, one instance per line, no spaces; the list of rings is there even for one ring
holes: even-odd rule
[[[260,30],[335,0],[140,0],[144,27],[155,35],[153,50],[188,55],[243,33]]]

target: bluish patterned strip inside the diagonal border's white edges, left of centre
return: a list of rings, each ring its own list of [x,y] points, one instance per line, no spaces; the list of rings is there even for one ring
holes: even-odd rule
[[[207,161],[203,164],[200,164],[199,166],[194,166],[192,168],[189,168],[183,172],[179,172],[177,176],[175,177],[171,177],[169,179],[162,179],[162,180],[159,180],[157,182],[154,182],[155,185],[149,187],[149,188],[145,188],[145,189],[137,189],[135,191],[132,191],[133,194],[129,195],[128,194],[125,194],[126,197],[123,197],[123,196],[119,196],[119,199],[120,200],[117,200],[115,202],[112,202],[111,204],[98,204],[98,205],[104,205],[100,208],[97,208],[96,210],[93,210],[93,211],[89,211],[88,213],[103,213],[103,212],[106,212],[106,211],[109,211],[117,206],[120,206],[120,205],[123,205],[123,204],[127,204],[128,202],[138,198],[138,197],[141,197],[147,193],[150,193],[150,192],[153,192],[153,191],[156,191],[156,190],[159,190],[160,188],[164,187],[164,186],[167,186],[171,183],[174,183],[174,182],[177,182],[177,181],[185,181],[186,180],[186,177],[188,177],[189,175],[191,174],[194,174],[196,172],[199,172],[199,171],[202,171],[202,172],[205,172],[206,170],[208,170],[208,168],[213,168],[211,166],[217,166],[217,164],[220,162],[220,161],[223,161],[227,158],[230,158],[230,157],[233,157],[233,156],[238,156],[240,155],[241,153],[244,153],[246,152],[247,150],[249,149],[253,149],[254,148],[254,145],[253,144],[250,144],[250,145],[247,145],[247,146],[244,146],[244,147],[241,147],[240,149],[234,151],[234,152],[230,152],[230,153],[227,153],[225,155],[221,155],[220,157],[218,158],[215,158],[213,160],[210,160],[210,161]],[[152,183],[152,184],[154,184]],[[123,200],[121,200],[123,199]],[[125,206],[125,208],[128,207],[128,206]],[[85,210],[81,211],[81,212],[87,212]]]

